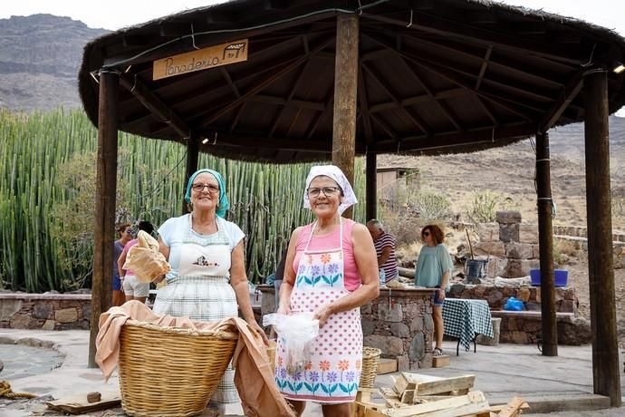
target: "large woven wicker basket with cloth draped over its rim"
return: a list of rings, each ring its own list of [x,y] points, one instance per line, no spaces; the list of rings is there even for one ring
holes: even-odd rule
[[[204,412],[235,353],[237,339],[231,325],[200,332],[128,320],[120,334],[124,412],[138,417]]]

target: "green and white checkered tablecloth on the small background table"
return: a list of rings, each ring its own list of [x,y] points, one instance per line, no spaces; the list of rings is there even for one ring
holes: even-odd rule
[[[490,308],[486,300],[445,298],[443,323],[445,335],[459,339],[466,351],[476,335],[493,337]]]

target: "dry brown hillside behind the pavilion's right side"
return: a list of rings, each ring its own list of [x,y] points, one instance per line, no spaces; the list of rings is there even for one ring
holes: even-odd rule
[[[550,131],[555,224],[586,226],[586,177],[583,123]],[[610,118],[612,199],[625,199],[625,118]],[[493,190],[510,198],[523,221],[535,223],[535,154],[530,140],[492,150],[438,157],[380,156],[380,167],[418,168],[420,186],[449,199],[452,211],[466,220],[475,191]],[[614,228],[625,230],[625,216],[613,213]]]

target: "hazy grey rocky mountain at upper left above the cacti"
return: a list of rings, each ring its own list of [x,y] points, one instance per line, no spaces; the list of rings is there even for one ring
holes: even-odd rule
[[[33,111],[81,106],[77,74],[82,48],[108,32],[54,15],[0,19],[0,107]]]

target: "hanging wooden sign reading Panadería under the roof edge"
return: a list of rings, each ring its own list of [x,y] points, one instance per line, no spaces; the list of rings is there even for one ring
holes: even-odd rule
[[[180,53],[154,61],[153,80],[247,61],[247,39]]]

